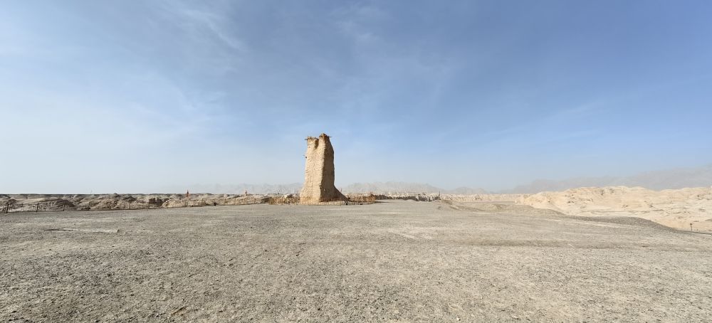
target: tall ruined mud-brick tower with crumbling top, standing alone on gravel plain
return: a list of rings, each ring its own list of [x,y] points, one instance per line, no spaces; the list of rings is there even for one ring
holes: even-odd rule
[[[329,136],[320,134],[307,137],[304,186],[299,194],[300,203],[346,201],[347,198],[334,186],[334,147]]]

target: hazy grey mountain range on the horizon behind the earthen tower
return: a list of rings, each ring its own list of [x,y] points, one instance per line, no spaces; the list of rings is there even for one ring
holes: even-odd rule
[[[441,194],[533,194],[541,191],[564,191],[577,187],[588,186],[642,186],[646,189],[682,189],[684,187],[705,187],[712,186],[712,164],[680,169],[666,169],[661,171],[649,171],[634,176],[614,177],[580,177],[575,179],[565,179],[552,181],[548,179],[538,179],[529,184],[516,186],[513,189],[488,192],[484,189],[472,187],[459,187],[457,189],[442,189],[430,184],[407,183],[401,181],[355,183],[348,186],[338,187],[343,193],[441,193]],[[295,194],[302,188],[301,183],[293,184],[229,184],[229,185],[194,185],[190,191],[195,193],[213,194]]]

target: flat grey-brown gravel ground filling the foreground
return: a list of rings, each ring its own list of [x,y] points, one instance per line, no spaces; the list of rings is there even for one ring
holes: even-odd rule
[[[0,320],[703,322],[712,235],[387,201],[0,215]]]

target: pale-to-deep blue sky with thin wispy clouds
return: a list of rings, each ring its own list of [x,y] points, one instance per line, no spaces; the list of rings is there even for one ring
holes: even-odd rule
[[[205,2],[205,3],[203,3]],[[0,192],[712,162],[709,1],[3,1]]]

